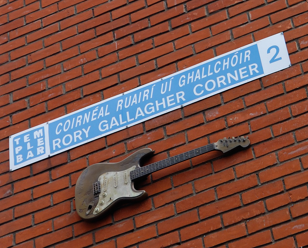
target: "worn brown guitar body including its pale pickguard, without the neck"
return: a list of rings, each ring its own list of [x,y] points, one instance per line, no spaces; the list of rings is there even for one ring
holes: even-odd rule
[[[125,200],[142,200],[144,190],[137,191],[129,173],[140,168],[142,158],[152,155],[150,148],[141,149],[121,162],[97,163],[87,167],[75,186],[75,204],[84,220],[99,218]]]

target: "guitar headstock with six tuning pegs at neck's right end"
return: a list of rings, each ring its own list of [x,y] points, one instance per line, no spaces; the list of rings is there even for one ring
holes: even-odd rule
[[[223,138],[214,143],[214,148],[220,150],[223,153],[228,152],[238,146],[247,147],[250,144],[248,137],[237,137],[237,138]]]

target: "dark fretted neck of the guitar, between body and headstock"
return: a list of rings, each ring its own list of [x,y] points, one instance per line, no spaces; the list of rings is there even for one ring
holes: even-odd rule
[[[214,143],[211,143],[209,145],[205,145],[205,146],[201,146],[199,148],[193,149],[191,151],[188,152],[184,152],[181,153],[179,155],[175,155],[173,157],[170,158],[166,158],[164,160],[143,166],[141,168],[137,168],[136,170],[132,170],[130,172],[130,178],[131,180],[143,177],[143,176],[147,176],[155,171],[167,168],[169,166],[178,164],[180,162],[186,161],[188,159],[197,157],[201,154],[207,153],[207,152],[211,152],[214,151]]]

